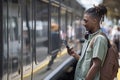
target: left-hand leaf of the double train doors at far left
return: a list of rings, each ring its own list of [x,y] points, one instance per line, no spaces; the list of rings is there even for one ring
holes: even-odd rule
[[[20,75],[21,26],[18,1],[3,0],[3,79]]]

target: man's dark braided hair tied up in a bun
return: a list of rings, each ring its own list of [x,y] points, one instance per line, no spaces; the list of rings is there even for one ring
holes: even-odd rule
[[[91,15],[94,18],[98,18],[99,21],[104,21],[104,15],[107,14],[107,8],[102,4],[98,6],[94,5],[94,7],[86,10],[85,13]]]

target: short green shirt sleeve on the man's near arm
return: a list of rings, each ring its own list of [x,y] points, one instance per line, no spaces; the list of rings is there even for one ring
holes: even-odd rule
[[[104,36],[97,36],[93,44],[93,58],[99,58],[101,61],[103,61],[107,53],[107,45],[108,42]]]

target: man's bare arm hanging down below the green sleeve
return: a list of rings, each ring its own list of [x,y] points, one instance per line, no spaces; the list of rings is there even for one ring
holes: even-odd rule
[[[85,80],[93,80],[98,70],[100,70],[101,60],[98,58],[92,59],[92,65],[86,75]]]

